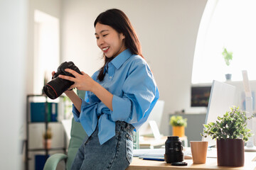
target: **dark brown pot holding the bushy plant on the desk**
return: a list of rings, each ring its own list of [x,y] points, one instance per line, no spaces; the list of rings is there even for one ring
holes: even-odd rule
[[[244,166],[245,148],[242,139],[217,140],[218,166]]]

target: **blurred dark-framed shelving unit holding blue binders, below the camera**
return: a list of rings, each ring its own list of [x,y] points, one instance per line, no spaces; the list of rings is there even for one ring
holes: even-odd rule
[[[60,96],[60,98],[63,98],[63,96]],[[37,100],[36,100],[37,99]],[[44,152],[44,162],[46,162],[46,159],[48,158],[48,155],[50,152],[63,152],[66,153],[66,139],[65,139],[65,132],[64,130],[58,129],[58,131],[63,133],[63,146],[60,147],[50,147],[48,148],[46,146],[46,143],[43,147],[31,147],[31,140],[33,140],[33,137],[31,137],[31,127],[39,125],[44,125],[44,132],[47,132],[49,129],[49,125],[56,125],[59,124],[59,127],[61,126],[61,121],[58,119],[58,104],[60,104],[62,101],[58,100],[57,103],[55,102],[49,102],[50,98],[48,98],[45,94],[29,94],[26,96],[26,141],[25,141],[25,169],[30,169],[31,166],[30,162],[32,158],[29,156],[31,152]],[[60,107],[59,107],[60,108]],[[40,134],[41,132],[37,132]],[[54,135],[54,134],[53,134]],[[37,137],[38,138],[38,137]],[[35,140],[43,140],[43,134],[41,134],[40,139]],[[36,158],[35,158],[36,159]],[[35,162],[33,162],[36,164]]]

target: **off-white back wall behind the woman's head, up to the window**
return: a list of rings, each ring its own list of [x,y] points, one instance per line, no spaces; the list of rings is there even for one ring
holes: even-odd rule
[[[143,55],[165,101],[161,132],[169,135],[169,113],[189,108],[193,55],[207,0],[63,1],[63,60],[92,75],[102,65],[93,23],[101,12],[119,8],[131,20]]]

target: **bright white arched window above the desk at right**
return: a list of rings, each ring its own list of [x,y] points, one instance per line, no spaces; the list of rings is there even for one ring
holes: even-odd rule
[[[242,70],[250,80],[256,79],[256,1],[208,1],[198,30],[193,61],[192,84],[242,81]],[[225,65],[223,47],[233,52],[230,66]]]

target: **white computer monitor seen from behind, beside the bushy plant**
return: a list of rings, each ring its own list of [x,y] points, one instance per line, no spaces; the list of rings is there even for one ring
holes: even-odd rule
[[[230,110],[230,107],[233,106],[234,97],[235,86],[213,80],[205,124],[210,122],[215,123],[216,120],[218,120],[218,116],[223,117],[223,115]],[[208,147],[216,145],[216,140],[212,140],[209,136],[203,137],[202,140],[208,141]]]

